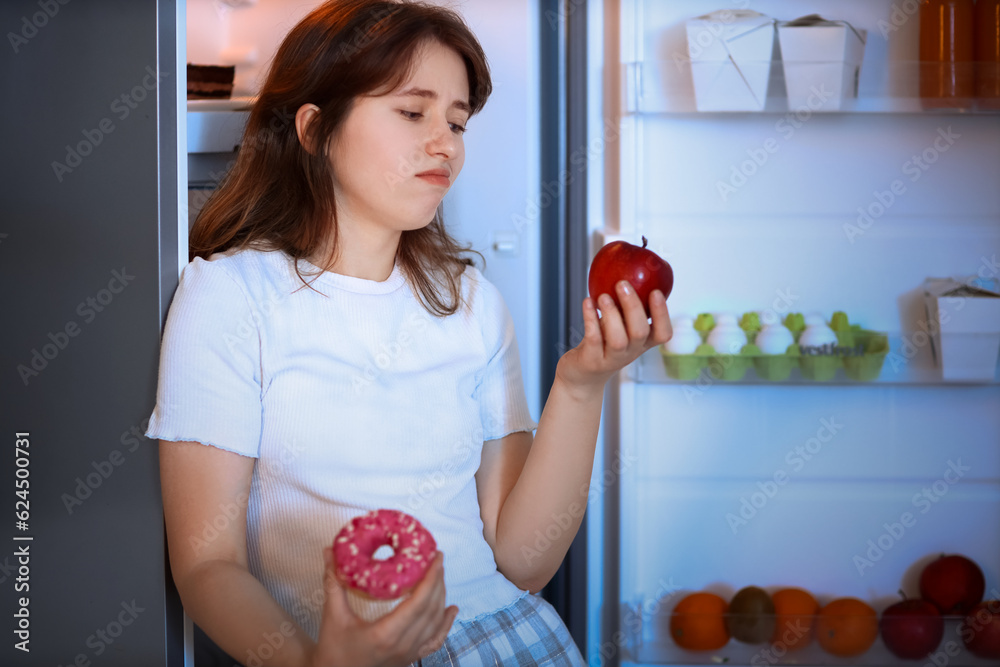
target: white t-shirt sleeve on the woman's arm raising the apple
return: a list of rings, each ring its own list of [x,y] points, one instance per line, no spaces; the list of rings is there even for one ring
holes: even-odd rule
[[[477,387],[483,440],[497,440],[518,431],[533,431],[521,377],[514,320],[500,291],[478,272],[479,319],[489,358]]]

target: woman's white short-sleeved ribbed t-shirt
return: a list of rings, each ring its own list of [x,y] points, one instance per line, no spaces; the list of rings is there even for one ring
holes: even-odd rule
[[[300,261],[300,269],[315,267]],[[257,459],[250,570],[314,638],[322,550],[373,509],[407,512],[430,530],[459,621],[514,602],[525,592],[497,571],[474,477],[484,441],[537,426],[499,292],[468,267],[467,306],[435,317],[398,266],[383,282],[323,272],[310,284],[278,251],[186,266],[146,436]],[[218,508],[217,525],[192,535],[192,546],[232,513]],[[349,600],[368,619],[396,604]]]

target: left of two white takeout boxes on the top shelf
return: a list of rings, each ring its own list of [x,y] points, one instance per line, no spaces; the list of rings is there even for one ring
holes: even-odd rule
[[[774,19],[727,9],[687,22],[698,111],[762,111],[774,54]]]

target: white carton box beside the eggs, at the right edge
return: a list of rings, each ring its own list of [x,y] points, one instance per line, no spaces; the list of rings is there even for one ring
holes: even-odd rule
[[[1000,293],[951,278],[928,278],[924,303],[942,378],[992,381],[1000,355]]]

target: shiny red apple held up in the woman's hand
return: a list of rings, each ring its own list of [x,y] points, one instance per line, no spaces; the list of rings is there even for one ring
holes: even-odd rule
[[[619,280],[627,280],[642,301],[649,316],[649,295],[653,290],[670,296],[674,288],[674,270],[652,250],[646,248],[646,237],[642,237],[642,247],[625,241],[614,241],[597,251],[590,264],[587,286],[595,300],[602,294],[610,294],[618,303],[615,285]]]

